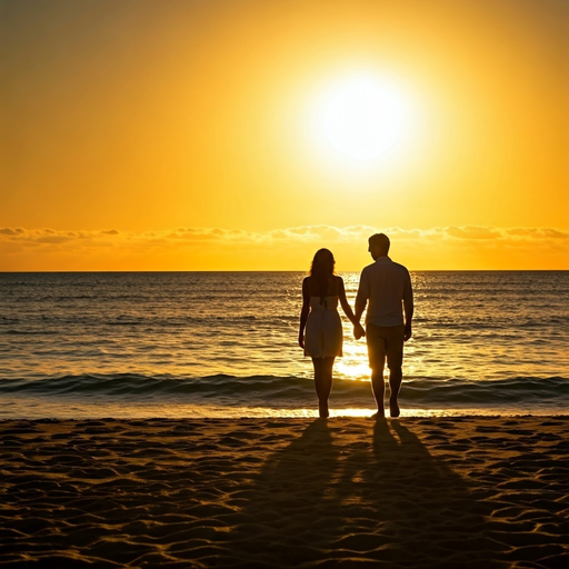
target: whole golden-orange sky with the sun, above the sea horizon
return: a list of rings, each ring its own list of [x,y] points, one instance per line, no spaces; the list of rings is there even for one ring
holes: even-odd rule
[[[569,269],[565,0],[0,9],[0,270]]]

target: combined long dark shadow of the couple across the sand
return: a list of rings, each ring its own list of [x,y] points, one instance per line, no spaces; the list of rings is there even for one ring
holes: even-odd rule
[[[316,420],[250,496],[220,566],[503,567],[488,508],[399,421]]]

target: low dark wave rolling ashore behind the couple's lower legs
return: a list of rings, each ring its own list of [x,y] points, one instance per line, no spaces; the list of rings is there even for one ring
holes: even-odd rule
[[[313,382],[302,377],[216,375],[208,377],[83,373],[40,379],[3,379],[0,395],[116,399],[128,401],[187,401],[226,406],[295,407],[313,396]],[[336,380],[333,398],[342,406],[369,403],[369,381]],[[500,380],[406,380],[400,399],[413,406],[555,405],[569,411],[569,379],[515,377]]]

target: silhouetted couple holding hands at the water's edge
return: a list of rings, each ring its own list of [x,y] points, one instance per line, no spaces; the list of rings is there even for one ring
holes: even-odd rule
[[[320,417],[328,417],[335,359],[342,355],[342,323],[338,303],[353,325],[356,340],[366,337],[371,387],[378,407],[375,417],[385,417],[383,369],[389,368],[389,412],[399,417],[398,395],[402,381],[403,343],[411,338],[413,292],[409,271],[389,257],[389,238],[369,238],[373,263],[361,271],[356,306],[346,298],[343,279],[333,273],[335,258],[328,249],[316,252],[310,274],[302,281],[299,346],[312,358]],[[360,323],[366,311],[366,329]]]

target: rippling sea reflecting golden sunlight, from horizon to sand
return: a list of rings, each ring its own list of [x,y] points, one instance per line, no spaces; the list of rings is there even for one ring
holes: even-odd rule
[[[340,272],[353,306],[359,273]],[[301,272],[0,273],[0,418],[316,417]],[[569,413],[569,271],[417,271],[402,416]],[[331,416],[373,412],[342,313]]]

